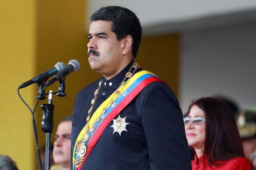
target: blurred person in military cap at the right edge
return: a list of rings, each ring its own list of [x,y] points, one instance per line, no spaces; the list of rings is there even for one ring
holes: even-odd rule
[[[256,112],[242,110],[236,116],[236,124],[242,138],[245,157],[256,167]]]

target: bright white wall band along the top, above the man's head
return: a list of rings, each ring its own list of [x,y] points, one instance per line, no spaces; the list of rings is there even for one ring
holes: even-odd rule
[[[106,5],[127,7],[136,13],[142,27],[256,8],[255,0],[88,0],[88,3],[89,16]]]

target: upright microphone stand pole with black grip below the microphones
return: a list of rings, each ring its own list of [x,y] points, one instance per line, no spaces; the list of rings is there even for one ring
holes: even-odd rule
[[[53,111],[54,105],[53,92],[50,90],[48,97],[48,104],[42,104],[43,120],[41,123],[42,130],[46,133],[46,146],[45,146],[45,170],[50,170],[50,148],[51,148],[51,133],[53,129]]]

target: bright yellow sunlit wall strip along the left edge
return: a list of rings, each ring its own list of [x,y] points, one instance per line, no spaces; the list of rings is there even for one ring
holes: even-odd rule
[[[17,89],[35,74],[35,10],[34,0],[0,1],[0,154],[12,157],[21,170],[34,169],[31,114]],[[30,106],[34,91],[20,92]]]

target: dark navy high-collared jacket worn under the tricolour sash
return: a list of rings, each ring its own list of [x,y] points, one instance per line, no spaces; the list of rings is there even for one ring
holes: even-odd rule
[[[110,80],[103,77],[93,111],[119,87],[131,65]],[[71,158],[76,138],[86,124],[91,100],[99,82],[100,79],[86,86],[76,96]],[[192,169],[182,112],[177,98],[164,82],[147,85],[119,115],[121,118],[126,117],[125,121],[129,123],[126,125],[127,132],[123,131],[121,136],[117,132],[113,134],[114,129],[110,127],[113,121],[109,122],[85,160],[82,170]]]

